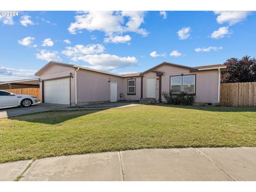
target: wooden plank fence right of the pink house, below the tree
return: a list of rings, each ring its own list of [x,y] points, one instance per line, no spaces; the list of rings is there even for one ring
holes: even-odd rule
[[[220,105],[256,106],[256,82],[222,83],[220,85]]]

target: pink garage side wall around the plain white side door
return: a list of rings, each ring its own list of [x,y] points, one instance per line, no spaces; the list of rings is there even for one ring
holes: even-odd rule
[[[77,103],[110,101],[110,83],[117,82],[117,100],[124,93],[124,79],[108,74],[79,69],[77,71]]]

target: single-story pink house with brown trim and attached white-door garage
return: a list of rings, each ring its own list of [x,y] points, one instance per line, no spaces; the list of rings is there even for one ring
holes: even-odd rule
[[[143,73],[117,75],[83,66],[49,62],[39,76],[42,102],[67,105],[155,99],[163,92],[195,95],[197,103],[219,103],[223,65],[188,67],[163,62]]]

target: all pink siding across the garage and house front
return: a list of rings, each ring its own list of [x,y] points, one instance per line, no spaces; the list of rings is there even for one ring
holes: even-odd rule
[[[188,69],[162,65],[156,70],[163,71],[162,92],[170,90],[170,76],[196,74],[196,102],[218,102],[218,70],[198,71],[190,73]],[[75,103],[75,69],[66,66],[51,65],[40,74],[40,78],[51,79],[68,76],[72,73],[71,78],[71,103]],[[147,98],[147,78],[154,77],[156,74],[148,72],[143,77],[143,98]],[[77,71],[77,103],[110,101],[110,83],[117,82],[117,100],[120,100],[120,93],[124,93],[126,100],[140,100],[141,97],[141,77],[132,77],[136,79],[136,94],[127,95],[127,79],[131,77],[118,77],[114,75],[97,73],[94,71],[79,69]],[[42,98],[42,83],[40,83],[40,97]],[[156,79],[156,99],[159,99],[159,81]],[[162,96],[162,100],[164,98]]]

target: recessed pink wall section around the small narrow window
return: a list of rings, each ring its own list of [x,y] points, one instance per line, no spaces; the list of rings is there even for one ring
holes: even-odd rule
[[[136,94],[135,95],[127,95],[127,80],[128,79],[136,79]],[[141,89],[141,77],[127,77],[123,79],[124,81],[124,98],[125,100],[140,100],[140,89]]]

